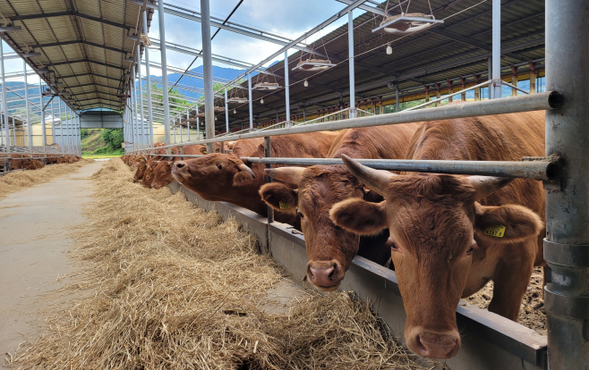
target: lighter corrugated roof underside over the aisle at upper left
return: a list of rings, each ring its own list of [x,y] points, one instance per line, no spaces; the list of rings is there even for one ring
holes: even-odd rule
[[[0,14],[21,30],[2,38],[18,53],[31,48],[41,56],[26,58],[47,83],[63,82],[54,91],[71,93],[74,110],[105,107],[123,110],[124,77],[135,52],[126,38],[142,28],[141,6],[124,0],[0,0]],[[148,22],[153,10],[148,9]]]

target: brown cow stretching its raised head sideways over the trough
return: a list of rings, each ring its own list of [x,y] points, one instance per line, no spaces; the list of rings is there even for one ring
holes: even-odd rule
[[[271,141],[272,156],[325,157],[336,137],[332,132],[278,136]],[[258,145],[249,156],[264,156],[264,145]],[[176,162],[173,174],[202,198],[233,203],[268,215],[267,206],[258,194],[264,184],[264,164],[248,164],[235,154],[219,153]],[[277,214],[277,221],[298,226],[296,214]]]

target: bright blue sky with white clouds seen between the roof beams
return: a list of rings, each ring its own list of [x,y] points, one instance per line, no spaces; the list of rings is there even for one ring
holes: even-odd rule
[[[165,0],[166,4],[181,6],[185,9],[200,12],[201,0]],[[234,9],[239,0],[210,0],[211,17],[226,19],[226,16]],[[304,32],[312,29],[327,20],[333,14],[341,11],[346,4],[337,0],[244,0],[243,4],[233,14],[230,21],[251,26],[256,29],[262,29],[286,38],[298,38]],[[362,10],[354,10],[354,18],[361,15]],[[166,41],[183,46],[201,50],[201,23],[186,20],[172,14],[165,14],[166,21]],[[339,20],[331,23],[327,28],[316,33],[312,38],[305,40],[307,44],[312,44],[317,38],[327,35],[334,29],[346,24],[347,17],[343,16]],[[217,28],[211,28],[211,35],[217,31]],[[149,38],[159,38],[159,20],[158,12],[153,14],[151,27],[149,29]],[[4,41],[4,54],[13,53],[13,50]],[[241,34],[221,29],[217,37],[212,42],[212,52],[215,55],[223,55],[239,61],[248,63],[260,63],[262,60],[277,52],[282,46],[263,41],[258,38],[251,38]],[[289,55],[296,50],[291,49]],[[175,67],[186,68],[194,57],[184,55],[168,50],[166,52],[167,63]],[[149,59],[151,62],[160,62],[159,50],[150,50]],[[277,56],[274,60],[266,63],[268,66],[278,60],[284,59],[284,55]],[[192,64],[196,68],[202,64],[201,59]],[[223,63],[213,62],[213,64],[235,68]],[[4,71],[6,73],[22,71],[22,60],[12,59],[4,61]],[[145,73],[145,67],[141,67],[142,73]],[[172,73],[172,71],[168,71]],[[151,67],[150,74],[161,76],[161,71]],[[7,80],[19,80],[22,78],[7,78]],[[30,83],[38,83],[38,76],[30,76]]]

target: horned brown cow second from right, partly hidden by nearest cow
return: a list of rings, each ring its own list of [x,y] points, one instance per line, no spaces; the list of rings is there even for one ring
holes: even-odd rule
[[[405,158],[409,140],[417,130],[417,123],[344,130],[329,150],[329,156],[354,158]],[[363,237],[341,230],[329,219],[329,209],[339,201],[356,198],[381,201],[375,193],[366,191],[363,184],[343,164],[313,165],[308,168],[282,167],[266,170],[275,180],[293,183],[290,189],[281,183],[260,188],[261,198],[278,212],[298,213],[301,217],[309,263],[307,280],[322,291],[337,290],[356,254],[380,265],[390,258],[384,238]],[[373,199],[374,197],[376,199]],[[361,242],[362,241],[362,242]]]

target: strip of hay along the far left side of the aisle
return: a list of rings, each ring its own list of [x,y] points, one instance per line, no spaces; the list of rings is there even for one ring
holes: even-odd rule
[[[82,165],[94,162],[91,159],[81,159],[73,164],[50,164],[38,170],[13,171],[0,177],[0,200],[8,194],[22,189],[30,188],[37,184],[49,182],[56,177],[78,171]]]

